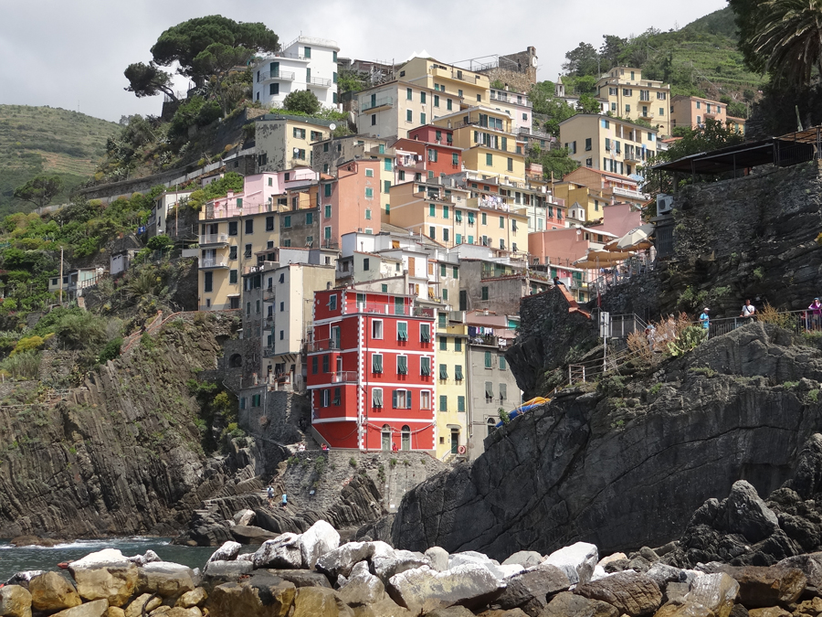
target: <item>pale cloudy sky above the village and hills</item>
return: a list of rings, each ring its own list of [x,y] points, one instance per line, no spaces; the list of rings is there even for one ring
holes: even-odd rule
[[[426,50],[441,62],[533,46],[539,80],[555,80],[564,54],[606,34],[683,27],[726,0],[0,0],[0,104],[49,105],[117,122],[158,114],[162,96],[137,99],[122,71],[148,62],[168,27],[223,15],[263,22],[286,44],[331,38],[343,58],[405,60]],[[176,90],[184,90],[178,80]]]

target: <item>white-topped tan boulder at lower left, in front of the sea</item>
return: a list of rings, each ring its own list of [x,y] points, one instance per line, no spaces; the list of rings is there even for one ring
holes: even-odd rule
[[[105,548],[68,564],[85,601],[107,600],[109,606],[122,606],[137,589],[137,564],[114,548]]]

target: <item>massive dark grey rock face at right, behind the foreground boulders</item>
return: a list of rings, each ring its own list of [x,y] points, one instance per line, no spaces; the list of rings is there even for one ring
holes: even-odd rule
[[[820,381],[817,349],[754,323],[663,363],[653,383],[560,393],[494,431],[472,465],[409,491],[392,543],[497,559],[576,540],[605,553],[663,545],[740,477],[763,495],[785,482],[822,423],[822,404],[807,396]],[[819,469],[809,463],[803,482],[816,487]]]

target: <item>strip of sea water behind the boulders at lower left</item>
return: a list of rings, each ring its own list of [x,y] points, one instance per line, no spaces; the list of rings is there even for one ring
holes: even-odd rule
[[[117,548],[126,557],[142,555],[151,548],[163,561],[182,563],[189,568],[203,569],[215,547],[184,547],[171,543],[170,537],[118,537],[100,540],[76,540],[54,547],[15,547],[0,540],[0,583],[16,572],[26,569],[58,569],[58,563],[85,557],[103,548]],[[244,546],[240,552],[253,552],[258,547]]]

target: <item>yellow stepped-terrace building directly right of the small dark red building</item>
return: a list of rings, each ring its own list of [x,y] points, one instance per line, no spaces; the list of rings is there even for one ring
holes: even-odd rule
[[[506,182],[525,181],[525,143],[512,133],[507,113],[469,107],[441,116],[433,123],[454,130],[454,145],[462,148],[466,169]]]

